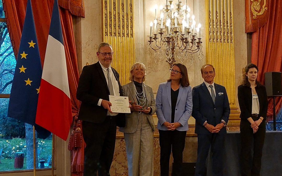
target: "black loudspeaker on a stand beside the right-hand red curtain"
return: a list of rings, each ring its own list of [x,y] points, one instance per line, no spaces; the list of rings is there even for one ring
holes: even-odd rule
[[[281,72],[265,72],[265,88],[268,97],[282,96]]]

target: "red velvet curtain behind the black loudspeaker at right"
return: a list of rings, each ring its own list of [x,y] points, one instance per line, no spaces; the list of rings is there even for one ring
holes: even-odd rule
[[[282,1],[269,1],[267,23],[252,34],[252,63],[259,68],[257,79],[264,84],[265,72],[282,71]],[[281,107],[282,98],[276,98],[276,112]],[[273,101],[268,100],[267,115],[273,115]]]

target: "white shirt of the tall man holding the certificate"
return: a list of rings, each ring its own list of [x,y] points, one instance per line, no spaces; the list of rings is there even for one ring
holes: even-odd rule
[[[99,61],[99,63],[100,63],[100,61]],[[109,85],[107,68],[104,67],[101,63],[100,63],[100,65],[101,65],[102,70],[104,72],[104,75],[105,75],[105,78],[106,78],[106,81],[107,81],[107,85]],[[114,76],[114,73],[113,73],[113,70],[111,68],[111,65],[109,66],[109,69],[110,69],[109,70],[109,74],[110,74],[110,77],[111,77],[111,80],[112,80],[112,85],[113,85],[113,88],[114,88],[114,96],[120,96],[120,88],[118,86],[118,81],[116,81],[116,77]],[[101,106],[101,102],[102,102],[102,99],[99,99],[97,105]],[[115,115],[118,115],[118,113],[110,113],[108,111],[107,115],[115,116]]]

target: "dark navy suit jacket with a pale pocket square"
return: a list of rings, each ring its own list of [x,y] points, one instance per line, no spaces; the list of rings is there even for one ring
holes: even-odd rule
[[[219,84],[214,84],[214,88],[216,93],[215,104],[205,83],[195,86],[192,90],[192,116],[196,119],[195,133],[197,134],[211,134],[203,126],[205,121],[213,126],[221,123],[221,120],[224,120],[226,123],[228,122],[230,106],[226,89]],[[226,133],[225,127],[218,134],[224,133]]]

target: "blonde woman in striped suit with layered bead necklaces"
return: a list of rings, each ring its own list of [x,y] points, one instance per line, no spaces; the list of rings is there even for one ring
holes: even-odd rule
[[[131,113],[125,115],[125,127],[119,129],[124,132],[128,175],[153,176],[155,124],[152,114],[156,112],[153,89],[143,83],[146,79],[143,63],[134,63],[130,75],[131,82],[122,86],[122,89],[124,96],[131,101]]]

